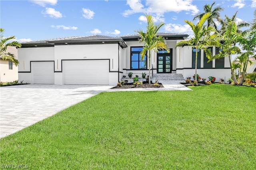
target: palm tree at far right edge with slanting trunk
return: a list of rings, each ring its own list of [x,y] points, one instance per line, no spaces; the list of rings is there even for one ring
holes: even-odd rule
[[[242,49],[246,51],[239,57],[243,64],[241,80],[239,83],[239,85],[242,85],[244,82],[247,65],[248,63],[252,64],[252,61],[250,61],[249,58],[256,57],[256,30],[251,31],[247,36],[242,37],[239,44],[242,45]]]

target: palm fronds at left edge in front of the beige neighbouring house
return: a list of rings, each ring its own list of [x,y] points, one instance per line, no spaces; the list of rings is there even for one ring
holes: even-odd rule
[[[4,29],[0,28],[0,56],[3,60],[10,60],[17,66],[19,64],[18,60],[14,58],[13,54],[6,53],[6,49],[8,46],[21,47],[21,45],[17,41],[8,42],[12,39],[15,39],[15,36],[6,38],[4,37],[3,33]]]

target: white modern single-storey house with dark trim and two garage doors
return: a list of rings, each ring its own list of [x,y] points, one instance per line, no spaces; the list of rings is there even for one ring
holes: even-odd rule
[[[166,39],[170,53],[159,51],[151,57],[153,78],[175,74],[192,77],[195,69],[195,51],[192,47],[177,47],[187,34],[159,33]],[[18,49],[19,80],[31,84],[102,84],[116,85],[123,75],[148,74],[148,58],[141,59],[143,44],[139,35],[110,37],[91,35],[65,37],[22,43]],[[212,54],[218,53],[209,47]],[[203,51],[198,56],[198,74],[202,78],[215,76],[218,80],[230,78],[228,59],[207,63]],[[160,80],[159,80],[160,81]],[[180,81],[180,80],[179,80]]]

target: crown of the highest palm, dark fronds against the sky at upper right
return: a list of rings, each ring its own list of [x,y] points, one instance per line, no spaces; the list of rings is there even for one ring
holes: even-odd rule
[[[204,16],[204,14],[209,12],[212,15],[207,20],[207,27],[212,26],[217,30],[218,28],[217,28],[217,25],[216,25],[214,19],[216,19],[217,21],[220,20],[220,12],[223,11],[224,8],[222,8],[220,6],[213,8],[214,4],[215,4],[215,2],[213,2],[212,5],[210,5],[210,4],[204,5],[204,12],[196,14],[196,16],[194,17],[193,20],[196,20],[196,19],[200,20]]]

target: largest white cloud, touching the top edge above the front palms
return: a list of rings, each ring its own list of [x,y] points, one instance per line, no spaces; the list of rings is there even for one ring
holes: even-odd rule
[[[146,8],[142,5],[140,0],[127,0],[130,10],[125,10],[123,16],[129,16],[134,13],[146,12],[148,14],[155,14],[162,16],[166,12],[181,12],[187,11],[192,15],[199,12],[197,6],[192,5],[192,0],[146,0]]]

